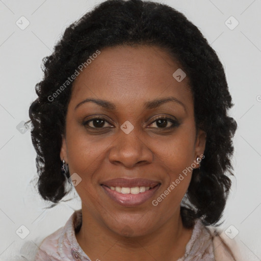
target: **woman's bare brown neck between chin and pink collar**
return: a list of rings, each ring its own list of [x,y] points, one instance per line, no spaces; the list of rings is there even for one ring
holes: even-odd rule
[[[75,236],[91,260],[174,261],[184,256],[193,230],[182,225],[179,209],[162,227],[138,237],[122,237],[115,233],[97,221],[84,204],[82,212],[82,227]]]

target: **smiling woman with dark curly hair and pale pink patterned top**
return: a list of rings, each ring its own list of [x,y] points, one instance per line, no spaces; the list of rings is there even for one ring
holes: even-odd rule
[[[103,2],[66,29],[36,92],[39,193],[58,203],[74,186],[82,209],[35,260],[241,260],[215,227],[233,175],[233,104],[183,14]]]

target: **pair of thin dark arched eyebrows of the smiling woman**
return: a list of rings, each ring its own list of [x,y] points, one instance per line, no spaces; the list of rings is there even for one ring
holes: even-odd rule
[[[170,101],[181,105],[184,108],[185,112],[187,113],[187,109],[186,109],[186,106],[184,105],[184,103],[182,103],[180,100],[178,100],[177,98],[172,97],[172,96],[164,97],[164,98],[160,98],[160,99],[154,99],[154,100],[151,100],[151,101],[146,101],[144,103],[144,108],[147,109],[147,110],[155,109],[155,108],[160,107],[164,103],[170,102]],[[74,108],[74,110],[76,110],[79,106],[81,106],[82,104],[84,104],[86,102],[94,102],[97,105],[99,105],[99,106],[101,106],[105,109],[108,109],[108,110],[115,110],[116,109],[115,104],[108,101],[108,100],[87,98],[87,99],[81,101],[79,104],[77,104],[76,107]]]

